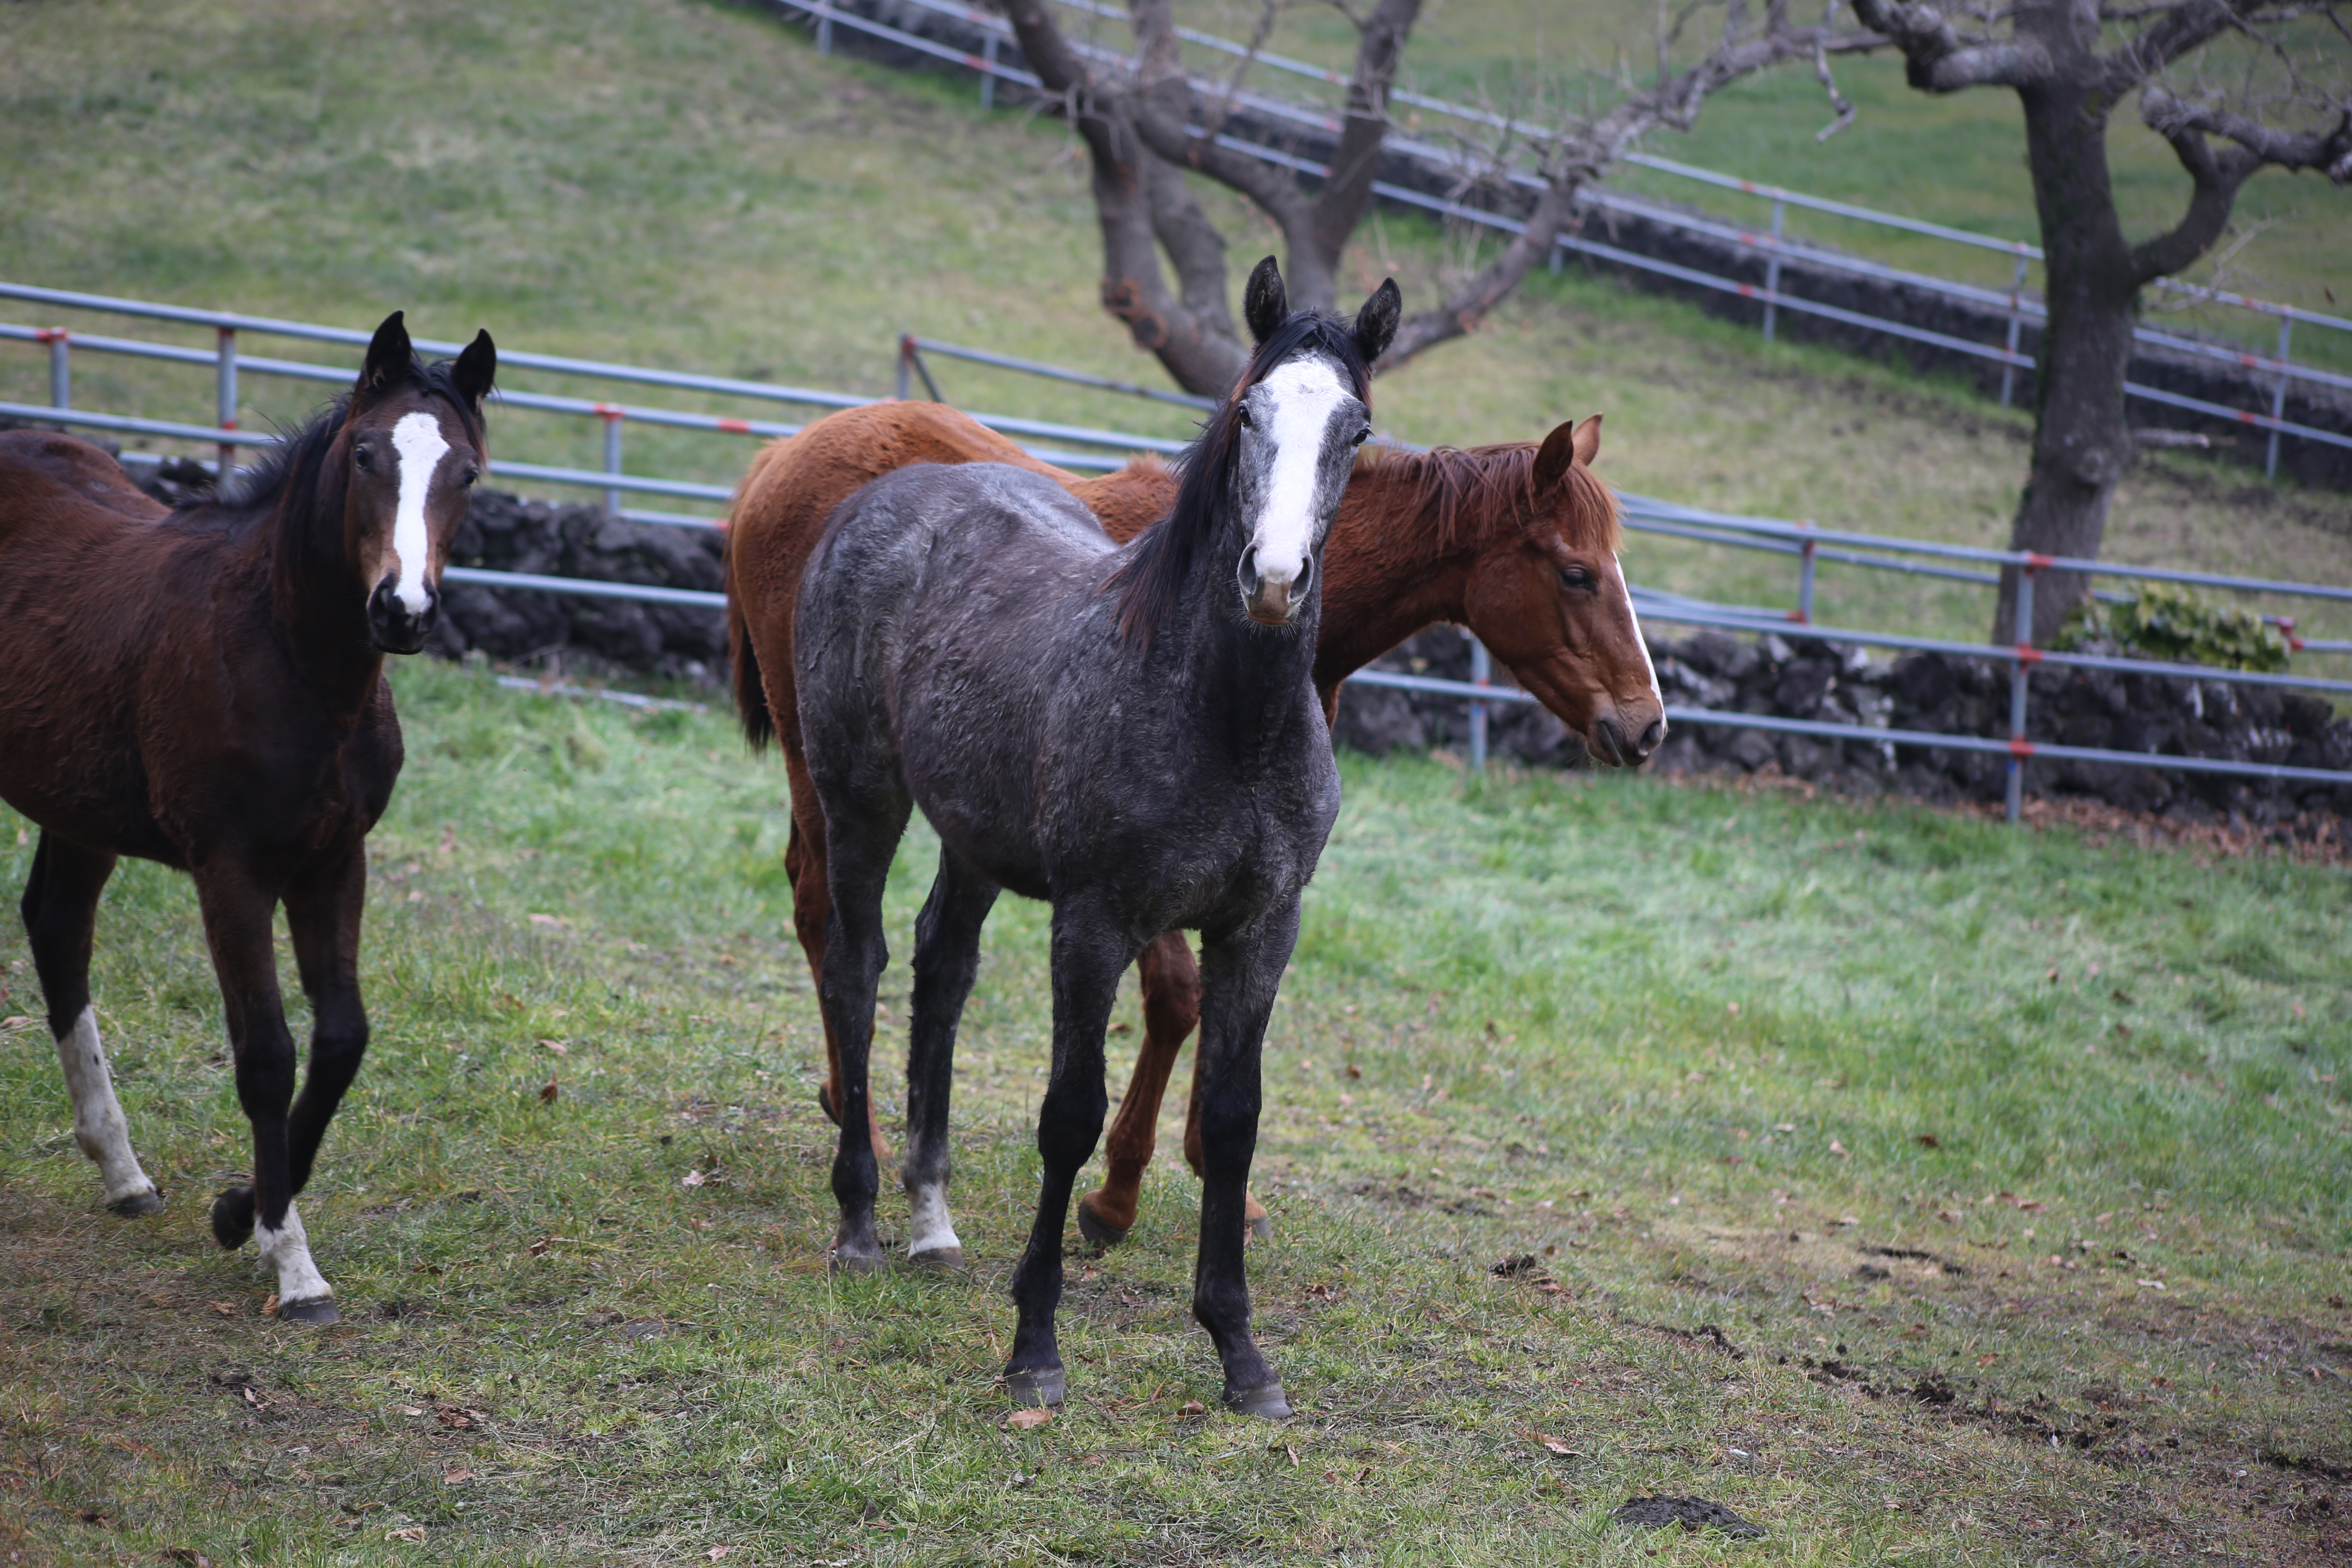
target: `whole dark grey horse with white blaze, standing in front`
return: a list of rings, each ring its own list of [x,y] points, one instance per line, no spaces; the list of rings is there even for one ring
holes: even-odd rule
[[[1152,938],[1202,940],[1202,1178],[1192,1314],[1225,1401],[1289,1415],[1249,1333],[1242,1204],[1258,1051],[1298,938],[1298,898],[1338,816],[1315,698],[1324,534],[1371,433],[1367,364],[1397,327],[1383,282],[1355,322],[1249,277],[1249,371],[1185,454],[1174,510],[1124,550],[1051,480],[997,463],[901,468],[835,512],[800,588],[800,724],[826,811],[833,914],[821,999],[842,1053],[835,1267],[882,1262],[868,1053],[882,879],[922,806],[938,879],[915,924],[910,1255],[962,1262],[948,1218],[955,1025],[1000,889],[1054,905],[1044,1180],[1014,1269],[1004,1378],[1061,1403],[1054,1338],[1070,1187],[1108,1105],[1103,1030]]]

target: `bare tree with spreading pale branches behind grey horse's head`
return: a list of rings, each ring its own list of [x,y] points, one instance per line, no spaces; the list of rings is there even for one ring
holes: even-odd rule
[[[1225,306],[1225,237],[1185,186],[1183,169],[1240,193],[1282,230],[1284,277],[1291,299],[1331,308],[1338,263],[1371,207],[1371,183],[1388,141],[1388,96],[1421,0],[1378,0],[1369,12],[1331,0],[1357,26],[1355,73],[1329,174],[1310,190],[1277,162],[1218,141],[1230,96],[1195,89],[1176,54],[1171,0],[1129,0],[1136,52],[1117,66],[1087,59],[1054,24],[1051,0],[997,0],[1011,21],[1030,71],[1058,96],[1087,141],[1094,165],[1094,205],[1103,226],[1103,308],[1127,322],[1136,343],[1160,357],[1188,390],[1216,397],[1232,386],[1247,348]],[[1279,0],[1265,0],[1263,40]],[[1722,12],[1722,26],[1700,35],[1693,19]],[[1835,5],[1832,5],[1835,12]],[[1863,31],[1839,31],[1825,19],[1799,28],[1785,0],[1769,0],[1762,19],[1748,0],[1689,0],[1658,38],[1656,75],[1642,85],[1618,78],[1597,113],[1566,120],[1538,146],[1543,190],[1526,228],[1472,275],[1454,280],[1435,310],[1411,315],[1376,369],[1472,331],[1510,299],[1529,270],[1545,261],[1569,223],[1578,193],[1606,174],[1646,132],[1689,129],[1715,94],[1785,61],[1813,61],[1828,85],[1828,59],[1882,47]],[[1689,59],[1696,54],[1696,59]],[[1675,63],[1684,59],[1686,63]],[[1842,115],[1851,113],[1830,87]],[[1169,287],[1160,256],[1176,270]]]

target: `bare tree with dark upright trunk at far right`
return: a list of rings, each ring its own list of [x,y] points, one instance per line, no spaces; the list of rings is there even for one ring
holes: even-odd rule
[[[2312,52],[2296,47],[2321,31],[2340,47],[2352,33],[2336,0],[1853,0],[1853,9],[1903,52],[1912,87],[2009,87],[2025,108],[2049,327],[2011,548],[2096,557],[2114,484],[2133,458],[2124,371],[2140,292],[2213,247],[2239,186],[2258,169],[2352,179],[2352,101],[2340,75],[2333,89],[2307,80]],[[2199,54],[2220,40],[2239,45],[2227,87],[2197,80]],[[2107,118],[2133,94],[2190,176],[2180,221],[2136,244],[2124,237],[2107,176]],[[2034,642],[2086,595],[2082,574],[2042,576]],[[1992,637],[2013,635],[2011,571]]]

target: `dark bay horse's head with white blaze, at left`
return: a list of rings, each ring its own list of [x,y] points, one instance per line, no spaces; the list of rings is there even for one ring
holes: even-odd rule
[[[343,468],[343,550],[367,585],[367,630],[414,654],[440,614],[440,574],[482,475],[482,397],[499,371],[489,334],[421,364],[400,310],[383,317],[329,463]]]

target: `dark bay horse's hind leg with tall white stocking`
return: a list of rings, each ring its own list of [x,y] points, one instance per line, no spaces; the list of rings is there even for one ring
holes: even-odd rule
[[[162,1208],[162,1194],[132,1152],[115,1077],[106,1067],[106,1046],[99,1044],[99,1016],[89,1006],[89,943],[99,924],[99,893],[113,872],[113,856],[42,832],[21,910],[33,971],[40,973],[40,994],[49,1004],[56,1060],[73,1095],[73,1143],[99,1164],[106,1206],[129,1220]]]

